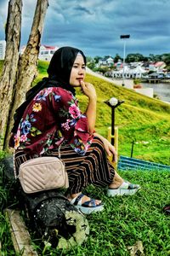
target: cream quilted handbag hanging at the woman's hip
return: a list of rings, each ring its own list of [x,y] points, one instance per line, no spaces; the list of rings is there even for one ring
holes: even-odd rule
[[[25,193],[31,194],[48,189],[68,188],[69,180],[65,163],[53,156],[42,156],[27,160],[20,165],[19,179]],[[14,174],[16,171],[14,168]]]

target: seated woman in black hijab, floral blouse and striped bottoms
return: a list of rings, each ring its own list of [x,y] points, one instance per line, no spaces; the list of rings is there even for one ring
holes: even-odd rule
[[[15,166],[42,155],[61,158],[69,177],[67,198],[84,213],[101,211],[99,200],[82,194],[89,184],[108,186],[108,195],[134,194],[139,185],[123,181],[106,154],[116,150],[94,131],[97,96],[93,84],[84,82],[86,57],[72,47],[58,49],[48,66],[48,79],[42,79],[26,94],[26,102],[14,115],[12,137]],[[75,87],[88,97],[86,113],[81,113]],[[106,154],[105,154],[106,153]]]

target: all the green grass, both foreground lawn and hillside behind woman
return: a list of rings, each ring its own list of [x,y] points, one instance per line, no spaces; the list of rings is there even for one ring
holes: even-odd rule
[[[2,63],[0,61],[0,72]],[[33,84],[47,76],[47,67],[47,61],[39,61],[40,74]],[[134,157],[170,165],[170,105],[91,75],[87,75],[87,81],[94,84],[97,91],[96,130],[105,137],[108,126],[111,126],[111,108],[104,101],[112,96],[125,101],[116,108],[116,125],[119,128],[118,153],[130,156],[134,141]],[[86,96],[82,96],[80,90],[77,90],[77,97],[82,110],[85,111],[88,103]],[[0,158],[5,155],[5,152],[0,152]],[[170,217],[162,212],[162,207],[170,203],[170,173],[128,171],[121,172],[121,175],[133,183],[139,183],[142,189],[132,197],[109,199],[105,196],[104,189],[89,187],[86,192],[94,197],[99,195],[105,202],[105,211],[87,216],[90,225],[88,241],[82,247],[72,248],[65,255],[129,255],[127,246],[133,246],[138,240],[143,242],[146,256],[170,255]],[[0,195],[0,254],[16,255],[3,209],[17,200],[14,198],[11,183],[4,185],[2,178]],[[64,255],[48,247],[40,248],[37,241],[33,242],[40,255]]]

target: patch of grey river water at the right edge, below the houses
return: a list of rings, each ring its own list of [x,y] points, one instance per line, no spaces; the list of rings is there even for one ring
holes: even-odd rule
[[[140,84],[143,88],[153,88],[154,95],[158,96],[161,101],[170,103],[170,84]]]

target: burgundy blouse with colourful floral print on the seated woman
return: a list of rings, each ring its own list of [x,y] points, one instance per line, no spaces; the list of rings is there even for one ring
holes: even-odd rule
[[[14,135],[14,148],[40,155],[58,148],[65,140],[78,154],[84,155],[93,137],[77,98],[63,88],[49,87],[39,91],[27,106]]]

